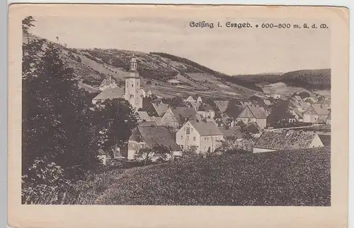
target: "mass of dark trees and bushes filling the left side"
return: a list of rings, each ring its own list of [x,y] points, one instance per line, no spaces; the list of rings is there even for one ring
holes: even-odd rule
[[[23,35],[33,26],[35,19],[25,18]],[[108,100],[92,111],[92,95],[77,83],[63,61],[61,45],[43,39],[23,43],[23,203],[64,191],[96,172],[98,150],[121,147],[136,126],[137,116],[127,101]]]

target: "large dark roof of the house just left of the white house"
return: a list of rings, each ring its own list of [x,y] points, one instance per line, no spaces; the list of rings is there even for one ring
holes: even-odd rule
[[[173,132],[166,126],[139,125],[135,128],[129,140],[144,142],[149,146],[160,144],[168,148],[171,147],[171,150],[181,150],[176,144]]]

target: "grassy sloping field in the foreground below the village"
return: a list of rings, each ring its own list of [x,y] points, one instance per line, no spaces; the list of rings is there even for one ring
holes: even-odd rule
[[[98,174],[64,204],[331,205],[330,149],[179,160]]]

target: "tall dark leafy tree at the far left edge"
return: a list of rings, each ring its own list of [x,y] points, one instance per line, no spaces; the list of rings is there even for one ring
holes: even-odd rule
[[[48,167],[64,169],[67,179],[94,169],[98,162],[97,117],[89,109],[86,92],[77,87],[72,68],[64,63],[62,49],[33,39],[23,43],[23,50],[25,181],[38,184],[38,176],[45,176],[38,172]],[[33,169],[33,164],[41,168]]]

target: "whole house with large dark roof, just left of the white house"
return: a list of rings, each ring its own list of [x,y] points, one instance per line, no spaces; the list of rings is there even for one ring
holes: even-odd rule
[[[128,140],[127,159],[134,160],[135,154],[144,147],[156,144],[170,148],[173,156],[181,155],[181,148],[176,144],[173,132],[167,126],[138,125]]]

